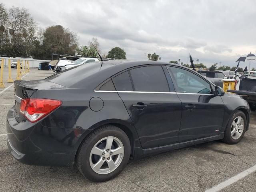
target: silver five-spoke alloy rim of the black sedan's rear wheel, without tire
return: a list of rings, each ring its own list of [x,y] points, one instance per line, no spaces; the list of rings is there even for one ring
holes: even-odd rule
[[[116,137],[105,137],[98,141],[90,152],[90,166],[98,174],[113,172],[122,162],[124,145]]]

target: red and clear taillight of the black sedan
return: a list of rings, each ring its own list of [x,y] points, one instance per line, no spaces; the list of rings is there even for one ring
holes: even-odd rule
[[[61,104],[61,101],[52,99],[22,99],[20,102],[20,112],[30,122],[36,122]]]

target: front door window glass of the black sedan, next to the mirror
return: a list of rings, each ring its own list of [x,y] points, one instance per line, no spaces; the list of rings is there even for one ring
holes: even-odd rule
[[[174,75],[176,85],[178,86],[177,92],[198,94],[212,93],[210,84],[193,72],[171,66],[168,66],[168,70]]]

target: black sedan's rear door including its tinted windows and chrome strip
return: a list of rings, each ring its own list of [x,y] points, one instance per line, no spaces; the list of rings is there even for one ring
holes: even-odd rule
[[[165,66],[140,66],[113,82],[136,127],[142,148],[178,142],[181,102]]]

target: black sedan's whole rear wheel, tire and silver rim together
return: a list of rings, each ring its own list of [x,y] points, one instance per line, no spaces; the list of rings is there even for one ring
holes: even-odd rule
[[[130,141],[116,126],[94,130],[80,146],[77,166],[82,175],[94,182],[116,177],[130,158]]]

